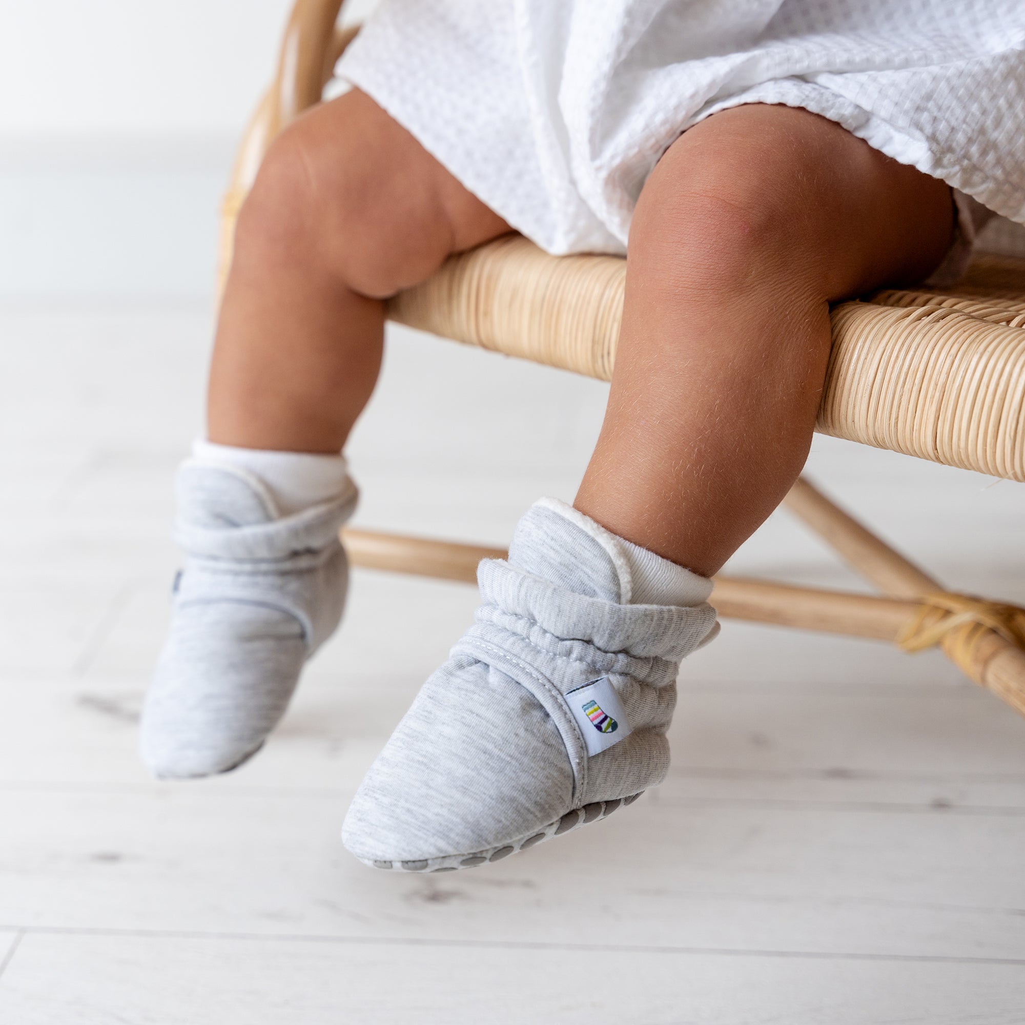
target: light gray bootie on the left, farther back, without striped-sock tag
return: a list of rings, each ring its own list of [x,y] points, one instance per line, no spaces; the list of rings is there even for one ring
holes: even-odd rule
[[[228,772],[262,745],[303,662],[338,625],[348,566],[338,528],[357,490],[279,518],[243,469],[188,461],[175,540],[187,560],[142,709],[140,750],[159,777]]]

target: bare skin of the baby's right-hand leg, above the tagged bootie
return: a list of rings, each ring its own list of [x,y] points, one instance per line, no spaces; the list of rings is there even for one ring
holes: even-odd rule
[[[949,189],[834,123],[740,107],[685,132],[645,186],[605,423],[575,505],[705,576],[804,465],[828,303],[921,280]]]

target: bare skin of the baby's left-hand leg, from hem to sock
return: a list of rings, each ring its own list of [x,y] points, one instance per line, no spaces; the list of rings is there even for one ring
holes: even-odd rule
[[[299,119],[239,218],[210,440],[338,452],[380,369],[381,300],[507,231],[359,90]]]

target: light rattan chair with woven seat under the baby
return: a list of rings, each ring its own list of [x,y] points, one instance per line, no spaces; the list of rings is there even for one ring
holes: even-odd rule
[[[295,0],[278,73],[240,148],[225,197],[221,280],[235,220],[275,134],[321,100],[354,28],[341,0]],[[466,344],[608,380],[625,260],[549,256],[503,237],[454,256],[388,303],[391,319]],[[881,291],[832,311],[823,434],[1025,481],[1025,260],[980,255],[953,288]],[[885,597],[721,576],[720,614],[801,629],[938,646],[976,683],[1025,713],[1025,610],[945,590],[807,481],[789,508]],[[476,580],[501,549],[343,531],[358,566]]]

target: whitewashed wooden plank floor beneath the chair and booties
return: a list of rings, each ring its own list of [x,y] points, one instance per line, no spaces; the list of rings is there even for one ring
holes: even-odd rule
[[[1025,721],[938,656],[727,623],[684,667],[657,791],[396,876],[338,829],[475,592],[358,572],[257,760],[148,779],[208,332],[200,308],[0,311],[3,1025],[1025,1021]],[[399,334],[352,449],[359,522],[504,542],[572,497],[603,401]],[[1025,600],[1025,489],[828,439],[811,470],[949,584]],[[783,514],[735,563],[857,586]]]

